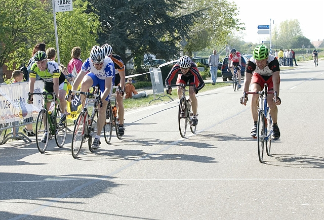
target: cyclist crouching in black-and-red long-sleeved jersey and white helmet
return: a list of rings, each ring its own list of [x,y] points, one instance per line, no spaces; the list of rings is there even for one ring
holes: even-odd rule
[[[172,87],[170,83],[174,76],[178,73],[177,84],[187,84],[189,82],[189,97],[191,100],[191,109],[193,113],[192,117],[192,125],[196,126],[198,124],[197,118],[197,108],[198,101],[196,98],[196,94],[199,90],[203,89],[205,86],[205,82],[201,77],[199,70],[194,62],[191,61],[190,57],[182,56],[179,60],[179,63],[174,65],[166,78],[166,87],[167,93],[170,94],[172,92]],[[181,99],[182,96],[181,87],[178,86],[178,97]]]

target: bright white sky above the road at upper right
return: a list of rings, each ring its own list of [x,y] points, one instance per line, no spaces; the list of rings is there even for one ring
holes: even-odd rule
[[[281,22],[297,19],[303,35],[310,41],[324,39],[322,0],[231,0],[231,2],[236,4],[239,11],[236,18],[245,23],[246,30],[243,31],[245,34],[242,40],[246,42],[261,43],[262,40],[269,39],[270,34],[258,34],[258,26],[270,25],[270,19],[271,27],[277,25],[277,29]]]

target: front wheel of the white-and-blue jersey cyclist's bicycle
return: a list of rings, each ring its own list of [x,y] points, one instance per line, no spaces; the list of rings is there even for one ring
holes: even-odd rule
[[[87,127],[87,117],[86,112],[82,111],[80,112],[79,116],[77,117],[73,129],[73,135],[72,135],[72,156],[74,158],[77,157],[77,155],[80,153],[82,144],[84,142],[85,138],[85,130]]]

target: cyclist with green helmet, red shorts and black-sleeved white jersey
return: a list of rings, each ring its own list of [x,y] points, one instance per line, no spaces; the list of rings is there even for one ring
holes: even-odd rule
[[[272,117],[273,125],[273,135],[272,139],[274,141],[278,140],[280,137],[280,131],[277,125],[277,114],[278,109],[277,105],[281,104],[279,98],[279,89],[280,89],[280,68],[279,62],[275,56],[269,54],[268,48],[264,45],[257,46],[253,51],[253,57],[248,61],[245,68],[245,80],[244,80],[244,92],[249,92],[249,86],[251,83],[252,92],[260,92],[263,90],[264,83],[268,84],[268,91],[277,92],[277,101],[269,101],[268,105],[270,108],[270,115]],[[258,94],[252,95],[251,100],[251,113],[254,121],[254,125],[251,129],[251,136],[257,136],[257,120],[258,120]],[[274,98],[273,94],[268,94],[268,100]],[[248,95],[246,97],[240,98],[240,103],[246,105],[248,101]]]

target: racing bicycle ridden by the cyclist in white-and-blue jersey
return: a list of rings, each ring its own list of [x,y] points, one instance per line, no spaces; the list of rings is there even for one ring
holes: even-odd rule
[[[95,149],[91,147],[92,138],[97,134],[97,121],[98,121],[98,103],[101,99],[100,95],[97,95],[98,87],[93,89],[93,92],[80,92],[80,91],[69,91],[71,93],[80,94],[85,96],[85,107],[77,117],[73,129],[72,135],[72,156],[77,158],[80,153],[83,143],[88,141],[89,150],[94,152]],[[94,98],[92,100],[91,98]],[[88,112],[88,105],[93,102],[92,112]]]

